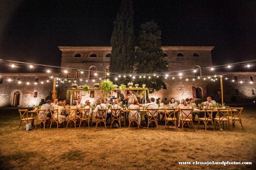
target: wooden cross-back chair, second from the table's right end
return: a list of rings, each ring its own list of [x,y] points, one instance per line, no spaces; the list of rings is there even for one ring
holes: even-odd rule
[[[225,108],[225,109],[219,108],[217,110],[218,110],[219,117],[214,118],[214,128],[216,127],[216,122],[218,122],[220,124],[220,132],[221,132],[221,123],[223,123],[223,129],[224,129],[224,122],[228,122],[228,124],[230,126],[230,129],[232,131],[232,125],[231,125],[231,123],[229,123],[229,120],[232,121],[232,119],[229,119],[229,110],[230,110],[230,108]]]

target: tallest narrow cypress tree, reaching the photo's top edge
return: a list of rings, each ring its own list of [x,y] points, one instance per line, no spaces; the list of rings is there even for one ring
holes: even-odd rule
[[[112,56],[109,71],[113,73],[131,73],[135,59],[132,0],[122,1],[114,22],[110,42]]]

